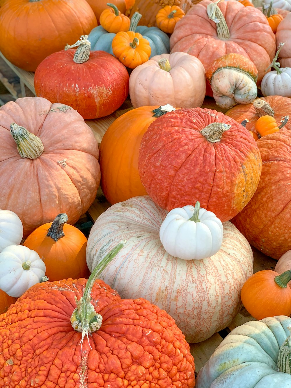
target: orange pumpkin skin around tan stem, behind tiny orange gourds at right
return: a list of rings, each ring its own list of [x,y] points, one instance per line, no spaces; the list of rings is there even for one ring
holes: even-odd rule
[[[265,101],[271,107],[272,112],[265,109],[262,103],[260,103],[260,108],[255,109],[254,103],[259,101]],[[249,131],[255,130],[255,123],[260,116],[274,116],[276,119],[277,125],[281,125],[281,119],[283,116],[291,117],[291,99],[287,97],[281,97],[278,95],[270,95],[267,97],[260,97],[252,102],[252,104],[239,104],[229,109],[225,114],[238,123],[241,123],[243,120],[248,119],[246,123],[246,129]],[[291,120],[284,126],[284,129],[291,130]]]

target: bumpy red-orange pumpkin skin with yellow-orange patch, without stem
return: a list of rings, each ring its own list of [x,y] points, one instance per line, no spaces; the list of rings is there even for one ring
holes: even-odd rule
[[[213,126],[219,126],[215,123],[230,128],[211,142],[203,135],[204,128],[211,127],[212,132]],[[261,168],[253,137],[242,125],[211,109],[170,112],[149,126],[140,143],[140,180],[159,206],[170,211],[199,201],[221,222],[250,201]]]

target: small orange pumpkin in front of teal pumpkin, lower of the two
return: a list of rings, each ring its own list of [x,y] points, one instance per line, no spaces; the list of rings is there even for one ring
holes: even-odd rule
[[[120,31],[113,38],[112,50],[124,66],[135,69],[149,60],[152,49],[149,41],[141,34],[133,31]]]

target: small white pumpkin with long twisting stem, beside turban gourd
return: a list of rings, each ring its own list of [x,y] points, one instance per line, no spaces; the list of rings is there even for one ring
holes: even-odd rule
[[[276,62],[284,44],[285,43],[279,44],[279,49],[276,52],[273,62],[266,69],[267,71],[272,67],[275,70],[270,71],[263,76],[261,90],[264,97],[274,95],[291,97],[291,68],[279,68],[280,63]]]

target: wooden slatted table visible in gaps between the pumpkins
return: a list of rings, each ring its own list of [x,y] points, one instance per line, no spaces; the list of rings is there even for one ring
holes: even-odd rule
[[[16,66],[12,65],[7,59],[1,54],[0,57],[3,58],[3,60],[7,63],[7,65],[15,72],[17,76],[20,78],[20,85],[21,85],[21,95],[22,97],[25,96],[25,88],[24,85],[26,85],[33,94],[35,94],[35,88],[34,88],[34,73],[24,71],[22,69],[17,68]],[[19,97],[19,96],[18,96]],[[206,97],[204,100],[203,106],[210,109],[216,109],[217,111],[222,111],[222,109],[218,108],[215,104],[215,100]],[[127,99],[125,103],[113,114],[110,116],[96,119],[96,120],[85,120],[86,123],[90,126],[92,129],[95,139],[100,144],[102,137],[104,133],[106,132],[107,128],[113,123],[116,118],[121,116],[121,114],[129,111],[132,108],[132,105],[130,103],[130,100]],[[92,219],[93,222],[97,220],[97,218],[102,214],[104,211],[106,211],[111,205],[107,202],[106,198],[104,197],[101,188],[99,187],[97,191],[97,196],[92,204],[92,206],[88,210],[88,215]],[[257,249],[253,248],[254,253],[254,272],[263,270],[263,269],[274,269],[275,264],[277,263],[276,260],[263,255],[263,253],[259,252]],[[248,312],[242,308],[239,314],[235,317],[235,319],[229,324],[228,327],[226,327],[224,330],[220,331],[219,333],[213,334],[208,340],[205,340],[200,343],[191,344],[190,349],[191,353],[194,356],[195,365],[196,365],[196,372],[199,371],[201,367],[206,363],[206,361],[209,360],[211,354],[214,352],[214,350],[217,348],[217,346],[221,343],[223,338],[230,333],[232,329],[234,329],[237,326],[240,326],[241,324],[248,322],[249,320],[255,320],[252,318]]]

